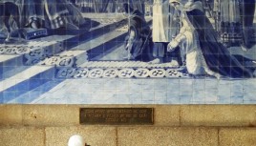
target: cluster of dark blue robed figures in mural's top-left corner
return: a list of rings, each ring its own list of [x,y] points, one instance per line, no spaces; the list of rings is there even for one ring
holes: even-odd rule
[[[15,23],[11,23],[11,15]],[[14,28],[78,30],[85,19],[75,5],[67,0],[3,0],[0,2],[0,30]],[[13,28],[13,27],[12,27]]]

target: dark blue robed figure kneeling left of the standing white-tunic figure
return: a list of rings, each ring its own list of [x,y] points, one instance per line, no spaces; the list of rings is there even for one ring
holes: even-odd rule
[[[125,50],[128,55],[124,59],[150,61],[152,56],[152,32],[144,14],[132,5],[125,3],[123,9],[128,14],[128,35],[125,39]]]

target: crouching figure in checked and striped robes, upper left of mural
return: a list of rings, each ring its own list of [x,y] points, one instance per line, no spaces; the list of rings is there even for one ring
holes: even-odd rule
[[[22,26],[33,29],[79,29],[85,20],[67,0],[17,0]]]

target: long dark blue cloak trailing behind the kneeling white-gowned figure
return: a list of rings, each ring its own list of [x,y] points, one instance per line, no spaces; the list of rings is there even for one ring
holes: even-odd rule
[[[186,48],[181,46],[182,50],[186,51],[185,53],[195,50],[200,52],[196,53],[194,58],[201,58],[203,61],[200,62],[205,63],[198,64],[198,66],[204,66],[204,69],[210,70],[212,73],[219,73],[231,78],[252,77],[252,72],[246,69],[228,52],[224,45],[218,41],[216,31],[213,29],[212,24],[202,10],[191,6],[189,10],[184,10],[183,12],[185,15],[184,19],[186,19],[188,23],[188,28],[185,28],[185,30],[187,30],[186,33],[191,34],[189,34],[189,36],[183,32],[185,37],[182,39],[175,38],[175,42],[178,42],[179,45],[185,43]],[[180,35],[181,32],[177,37]],[[189,64],[192,63],[190,62]]]

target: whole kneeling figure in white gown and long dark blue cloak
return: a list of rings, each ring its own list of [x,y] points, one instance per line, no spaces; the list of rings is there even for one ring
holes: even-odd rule
[[[188,73],[208,74],[220,77],[252,77],[246,69],[222,43],[217,32],[203,13],[202,2],[189,0],[170,0],[172,5],[182,11],[180,33],[168,44],[168,52],[180,47],[186,58]]]

